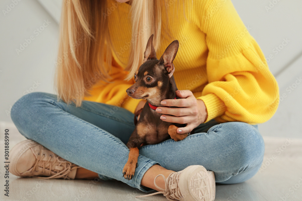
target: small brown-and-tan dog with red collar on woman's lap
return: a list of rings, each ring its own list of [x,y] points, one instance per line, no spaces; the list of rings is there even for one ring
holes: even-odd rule
[[[177,87],[173,77],[175,68],[172,62],[178,51],[179,42],[178,40],[171,42],[158,60],[152,40],[153,34],[147,42],[143,64],[134,74],[135,83],[126,90],[128,96],[134,99],[147,100],[127,143],[130,152],[123,169],[123,177],[128,180],[134,175],[139,156],[138,149],[142,144],[157,144],[169,137],[179,141],[188,136],[188,133],[179,134],[176,131],[178,127],[185,127],[185,124],[162,121],[160,119],[162,114],[155,111],[158,106],[162,106],[160,102],[163,99],[176,99]]]

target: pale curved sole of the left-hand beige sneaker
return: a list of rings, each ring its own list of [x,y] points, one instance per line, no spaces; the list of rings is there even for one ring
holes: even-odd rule
[[[20,158],[20,156],[26,152],[28,149],[30,149],[34,144],[38,144],[37,142],[33,141],[33,140],[24,140],[19,142],[18,144],[16,144],[10,151],[10,153],[13,153],[11,155],[11,167],[9,168],[9,172],[11,174],[14,174],[16,176],[21,177],[21,174],[17,171],[17,162]],[[14,153],[14,151],[16,151]]]

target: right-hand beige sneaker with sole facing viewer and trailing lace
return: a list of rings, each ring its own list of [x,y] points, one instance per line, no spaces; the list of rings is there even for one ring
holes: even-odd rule
[[[159,188],[155,183],[159,176],[165,180],[165,189]],[[207,171],[202,165],[188,166],[182,171],[171,173],[167,179],[159,174],[154,179],[154,185],[162,191],[137,197],[162,193],[168,200],[212,201],[215,199],[214,172]]]

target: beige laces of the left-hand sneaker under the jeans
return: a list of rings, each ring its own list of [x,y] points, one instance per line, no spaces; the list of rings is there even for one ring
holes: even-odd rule
[[[46,154],[38,154],[37,157],[37,162],[34,164],[33,168],[31,169],[31,172],[33,170],[38,171],[38,168],[42,168],[42,173],[45,173],[45,170],[48,171],[48,174],[53,174],[50,177],[37,177],[36,178],[41,178],[41,179],[56,179],[56,178],[63,178],[63,179],[70,179],[67,175],[69,172],[71,172],[73,169],[79,168],[79,166],[72,164],[69,161],[66,161],[63,159],[61,161],[59,156],[56,156],[56,159],[54,161],[50,161],[53,158],[53,155],[50,155],[49,159],[47,161],[43,161],[43,158],[46,156]],[[61,158],[62,159],[62,158]],[[39,162],[42,162],[42,165],[38,165]],[[55,171],[52,170],[52,166],[58,162],[58,165],[55,165]],[[65,164],[65,165],[64,165]],[[48,169],[47,169],[48,168]],[[61,170],[61,171],[60,171]]]

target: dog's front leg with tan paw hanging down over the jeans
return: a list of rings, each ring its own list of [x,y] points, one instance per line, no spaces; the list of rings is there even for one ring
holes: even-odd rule
[[[129,148],[130,152],[128,161],[123,169],[123,177],[125,179],[130,180],[134,176],[135,168],[137,168],[137,158],[139,156],[138,148],[142,143],[143,141],[137,135],[137,129],[135,128],[127,143],[127,147]]]

